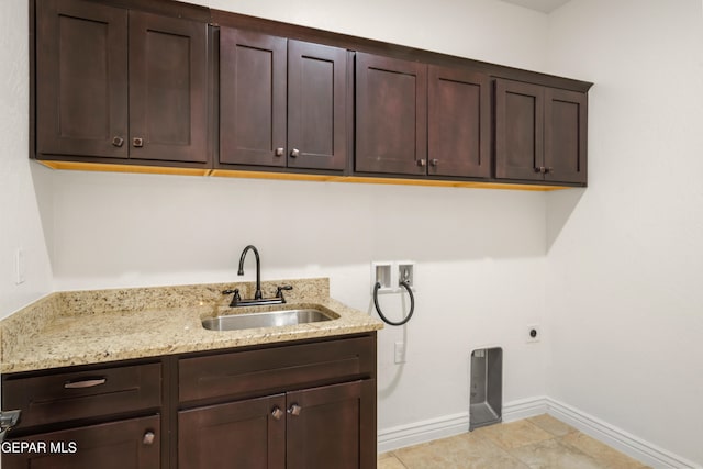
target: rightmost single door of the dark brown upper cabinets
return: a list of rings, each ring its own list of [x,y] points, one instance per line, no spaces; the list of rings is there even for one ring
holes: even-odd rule
[[[545,98],[545,180],[587,181],[587,96],[547,89]]]

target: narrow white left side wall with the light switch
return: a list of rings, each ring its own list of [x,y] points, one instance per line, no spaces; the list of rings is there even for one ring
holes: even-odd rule
[[[27,158],[27,31],[26,2],[0,2],[0,317],[52,290],[37,206],[37,199],[47,196],[47,188],[51,191],[51,175],[42,168],[32,169]],[[37,191],[36,185],[42,186]],[[14,259],[20,248],[24,252],[26,281],[16,284]]]

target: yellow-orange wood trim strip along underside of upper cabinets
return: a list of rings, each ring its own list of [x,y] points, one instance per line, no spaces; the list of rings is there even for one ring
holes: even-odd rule
[[[278,179],[289,181],[359,182],[373,185],[432,186],[473,189],[553,191],[567,186],[524,185],[511,182],[443,181],[437,179],[371,178],[362,176],[305,175],[298,172],[242,171],[233,169],[176,168],[166,166],[113,165],[104,163],[37,160],[53,169],[80,171],[137,172],[149,175],[216,176],[225,178]]]

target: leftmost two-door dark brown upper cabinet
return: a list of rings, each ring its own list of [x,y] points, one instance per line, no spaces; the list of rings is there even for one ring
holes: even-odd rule
[[[205,23],[37,2],[37,158],[207,163],[207,44]]]

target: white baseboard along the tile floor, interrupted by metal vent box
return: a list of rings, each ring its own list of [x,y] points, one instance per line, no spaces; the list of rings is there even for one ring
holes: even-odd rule
[[[703,469],[701,465],[689,461],[600,418],[545,395],[503,404],[503,422],[514,422],[545,413],[655,469]],[[408,425],[399,425],[379,431],[378,453],[446,438],[468,431],[468,411]]]

